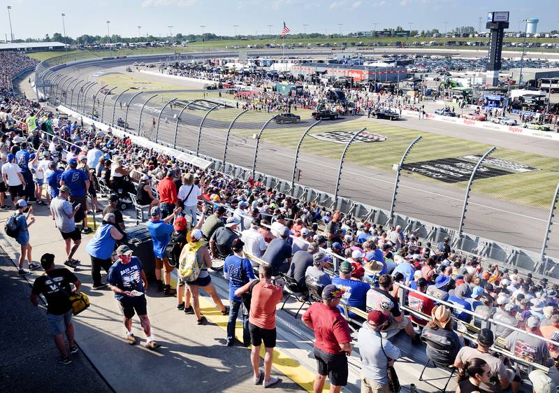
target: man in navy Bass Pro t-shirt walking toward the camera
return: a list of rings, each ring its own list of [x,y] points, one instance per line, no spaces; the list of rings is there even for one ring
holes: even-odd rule
[[[137,257],[132,257],[132,250],[127,245],[117,248],[117,257],[117,262],[110,266],[108,283],[112,292],[115,292],[115,299],[124,315],[126,342],[136,344],[136,337],[132,333],[132,317],[136,312],[145,334],[145,348],[159,348],[161,345],[154,341],[150,318],[147,317],[147,278],[142,263]]]

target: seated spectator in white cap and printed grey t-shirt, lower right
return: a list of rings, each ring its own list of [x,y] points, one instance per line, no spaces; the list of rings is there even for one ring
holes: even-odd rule
[[[535,336],[541,336],[539,334],[539,318],[535,316],[528,317],[525,330]],[[528,334],[522,334],[515,330],[507,336],[504,346],[514,356],[528,360],[528,362],[542,364],[542,366],[550,365],[551,355],[549,347],[546,341],[540,338],[528,336]]]

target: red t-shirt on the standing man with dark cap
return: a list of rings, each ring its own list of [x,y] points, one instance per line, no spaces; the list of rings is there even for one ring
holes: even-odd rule
[[[343,353],[340,343],[351,343],[351,332],[347,320],[342,317],[340,310],[326,306],[324,303],[312,303],[303,320],[311,321],[316,340],[314,345],[334,355]]]

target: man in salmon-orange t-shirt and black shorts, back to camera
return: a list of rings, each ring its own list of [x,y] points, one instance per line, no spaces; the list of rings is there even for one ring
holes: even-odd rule
[[[264,387],[277,383],[278,378],[271,376],[273,353],[276,340],[275,329],[275,309],[277,303],[282,301],[282,288],[272,283],[272,267],[261,265],[259,268],[260,282],[252,288],[252,301],[249,313],[249,331],[252,350],[250,351],[250,361],[254,376],[254,385],[258,385],[261,380],[260,372],[260,346],[262,341],[266,348],[264,355]],[[235,291],[235,296],[242,296],[250,289],[251,283],[247,283]]]

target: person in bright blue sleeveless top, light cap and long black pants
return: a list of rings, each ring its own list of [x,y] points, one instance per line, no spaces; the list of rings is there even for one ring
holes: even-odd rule
[[[92,261],[92,290],[101,290],[107,286],[101,281],[101,268],[108,273],[112,265],[112,251],[115,250],[117,241],[123,237],[124,234],[117,227],[115,214],[105,213],[101,225],[85,247],[85,252]]]

